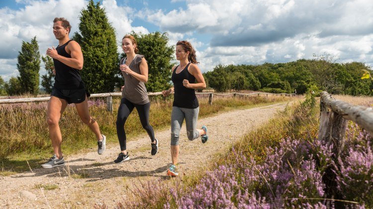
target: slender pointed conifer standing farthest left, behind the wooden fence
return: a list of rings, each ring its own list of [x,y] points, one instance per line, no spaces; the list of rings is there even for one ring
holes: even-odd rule
[[[18,55],[17,69],[21,93],[37,95],[39,92],[40,53],[36,36],[31,43],[22,41],[21,51]]]

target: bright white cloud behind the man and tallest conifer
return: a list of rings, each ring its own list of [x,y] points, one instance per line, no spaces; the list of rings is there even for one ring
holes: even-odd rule
[[[52,26],[55,17],[65,17],[72,25],[70,37],[78,31],[79,16],[83,8],[87,7],[87,0],[19,0],[25,4],[24,8],[11,10],[0,8],[0,75],[4,80],[17,75],[16,57],[21,50],[22,41],[30,42],[36,36],[40,54],[45,55],[48,47],[58,45],[53,36]],[[117,6],[115,0],[103,0],[102,6],[106,10],[109,21],[116,30],[118,51],[121,51],[119,42],[124,34],[131,32],[149,33],[142,27],[131,26],[136,11],[133,8]],[[15,63],[13,62],[15,60]],[[45,73],[41,68],[40,74]]]

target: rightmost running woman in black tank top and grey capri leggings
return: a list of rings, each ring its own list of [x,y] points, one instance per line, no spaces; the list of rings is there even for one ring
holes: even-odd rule
[[[208,139],[207,127],[196,129],[199,112],[198,99],[195,89],[206,88],[201,70],[196,65],[195,50],[188,41],[179,41],[176,44],[176,59],[180,65],[172,69],[172,82],[174,87],[162,91],[163,96],[175,92],[171,113],[171,158],[172,164],[167,170],[167,175],[177,176],[176,165],[179,157],[179,134],[185,119],[187,137],[189,140],[201,137],[202,143]]]

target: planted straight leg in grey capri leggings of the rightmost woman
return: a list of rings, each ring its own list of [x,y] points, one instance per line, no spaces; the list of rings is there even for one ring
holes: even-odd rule
[[[179,135],[183,126],[184,113],[179,107],[172,107],[171,113],[171,159],[176,165],[179,158]]]

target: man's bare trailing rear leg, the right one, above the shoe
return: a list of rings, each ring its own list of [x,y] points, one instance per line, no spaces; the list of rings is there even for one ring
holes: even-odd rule
[[[88,98],[86,97],[84,102],[75,104],[75,107],[77,108],[80,119],[82,120],[83,123],[87,124],[90,127],[90,129],[93,131],[94,135],[96,136],[96,139],[97,140],[103,139],[96,120],[94,120],[91,117],[90,112],[88,110]]]

